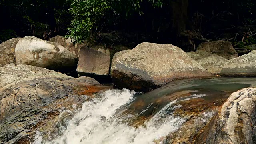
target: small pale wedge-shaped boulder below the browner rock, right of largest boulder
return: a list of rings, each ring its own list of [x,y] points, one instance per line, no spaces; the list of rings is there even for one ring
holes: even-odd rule
[[[196,60],[198,64],[208,70],[211,74],[219,74],[227,61],[226,58],[215,54]]]

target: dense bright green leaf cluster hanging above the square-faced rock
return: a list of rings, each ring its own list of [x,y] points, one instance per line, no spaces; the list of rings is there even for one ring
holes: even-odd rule
[[[94,24],[104,16],[104,11],[110,8],[106,0],[71,0],[71,28],[68,35],[72,42],[84,42],[90,37]]]

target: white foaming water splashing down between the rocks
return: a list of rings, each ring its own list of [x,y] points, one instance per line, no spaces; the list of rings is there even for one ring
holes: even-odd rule
[[[180,101],[177,99],[144,122],[144,126],[128,126],[116,116],[116,112],[128,107],[134,100],[134,94],[134,91],[127,89],[107,90],[102,93],[102,98],[84,102],[81,110],[68,122],[62,136],[43,141],[37,133],[34,144],[154,144],[154,140],[174,132],[186,121],[185,118],[162,115],[174,102]],[[184,100],[201,96],[204,95]]]

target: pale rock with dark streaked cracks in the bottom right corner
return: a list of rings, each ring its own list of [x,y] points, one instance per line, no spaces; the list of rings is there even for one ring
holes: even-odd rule
[[[208,144],[255,144],[256,88],[231,94],[206,136]]]

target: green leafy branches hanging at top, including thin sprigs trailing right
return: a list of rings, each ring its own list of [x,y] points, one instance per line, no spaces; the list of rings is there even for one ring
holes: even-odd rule
[[[70,2],[69,12],[72,20],[66,38],[71,38],[74,44],[84,42],[97,30],[100,31],[106,23],[105,15],[111,15],[109,12],[112,12],[113,20],[124,13],[126,17],[131,16],[133,12],[143,14],[140,10],[143,0],[70,0]],[[148,2],[153,7],[163,6],[162,0],[148,0]],[[102,18],[105,18],[104,23],[99,25]]]

